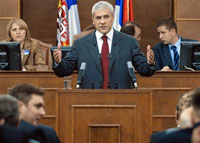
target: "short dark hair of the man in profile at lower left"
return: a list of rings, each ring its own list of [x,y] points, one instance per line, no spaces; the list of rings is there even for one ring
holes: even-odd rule
[[[43,96],[44,91],[32,84],[23,83],[13,87],[9,94],[24,102],[24,104],[28,104],[32,94]]]

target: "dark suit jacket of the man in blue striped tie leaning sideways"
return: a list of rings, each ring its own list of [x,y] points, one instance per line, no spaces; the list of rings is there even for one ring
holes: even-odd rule
[[[181,38],[181,42],[183,41],[195,40]],[[165,66],[168,66],[170,69],[173,69],[173,62],[168,44],[163,44],[161,42],[153,48],[153,51],[155,54],[156,70],[161,70]]]

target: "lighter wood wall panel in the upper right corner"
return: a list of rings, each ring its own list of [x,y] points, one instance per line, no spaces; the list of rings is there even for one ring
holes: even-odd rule
[[[174,18],[177,22],[178,33],[189,39],[200,40],[200,1],[174,0]]]

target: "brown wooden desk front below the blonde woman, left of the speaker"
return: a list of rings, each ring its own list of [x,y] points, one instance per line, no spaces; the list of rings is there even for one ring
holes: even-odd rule
[[[64,78],[57,77],[53,71],[0,71],[0,94],[7,94],[8,88],[25,82],[41,88],[64,87]]]

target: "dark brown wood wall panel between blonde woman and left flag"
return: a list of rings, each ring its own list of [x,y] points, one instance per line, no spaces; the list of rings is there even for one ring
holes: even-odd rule
[[[55,45],[58,0],[22,1],[22,18],[27,22],[32,37]]]

